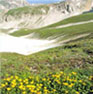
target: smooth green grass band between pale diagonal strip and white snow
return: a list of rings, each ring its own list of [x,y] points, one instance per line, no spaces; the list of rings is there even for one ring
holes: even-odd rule
[[[76,25],[66,28],[59,28],[59,29],[36,29],[36,30],[21,29],[19,31],[12,33],[11,35],[20,37],[34,32],[39,36],[39,38],[46,39],[48,37],[66,35],[64,38],[67,39],[72,36],[77,36],[84,33],[92,33],[93,31],[92,27],[93,27],[93,23],[87,23],[87,24]]]

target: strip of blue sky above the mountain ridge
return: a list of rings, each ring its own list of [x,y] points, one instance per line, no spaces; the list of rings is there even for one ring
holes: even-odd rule
[[[43,3],[43,4],[48,4],[48,3],[55,3],[55,2],[59,2],[59,1],[62,1],[62,0],[27,0],[29,3],[35,3],[35,4],[38,4],[38,3]]]

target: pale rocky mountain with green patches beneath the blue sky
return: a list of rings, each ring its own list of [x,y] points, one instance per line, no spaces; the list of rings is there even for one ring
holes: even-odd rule
[[[0,27],[4,28],[40,28],[89,11],[93,6],[93,0],[66,0],[46,5],[29,5],[25,0],[1,2],[1,7],[8,9],[0,17]]]

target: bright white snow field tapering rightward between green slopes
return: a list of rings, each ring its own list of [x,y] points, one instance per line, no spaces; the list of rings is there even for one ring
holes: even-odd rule
[[[56,40],[27,39],[0,33],[0,52],[29,55],[58,46]]]

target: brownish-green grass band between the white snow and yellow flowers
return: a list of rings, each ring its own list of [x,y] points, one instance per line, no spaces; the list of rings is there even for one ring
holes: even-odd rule
[[[93,35],[29,56],[1,54],[1,75],[29,75],[70,70],[92,72]],[[86,73],[87,74],[87,73]]]

